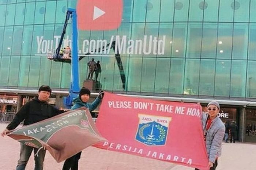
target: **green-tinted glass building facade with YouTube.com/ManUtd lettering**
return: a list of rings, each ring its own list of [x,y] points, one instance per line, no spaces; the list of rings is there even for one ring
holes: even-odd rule
[[[0,87],[69,88],[71,65],[46,54],[56,49],[67,8],[76,3],[0,0]],[[80,61],[80,86],[94,57],[103,90],[255,99],[255,9],[256,0],[123,0],[116,30],[79,30],[80,56],[91,53]],[[64,46],[71,32],[69,23]],[[96,50],[114,40],[113,50]]]

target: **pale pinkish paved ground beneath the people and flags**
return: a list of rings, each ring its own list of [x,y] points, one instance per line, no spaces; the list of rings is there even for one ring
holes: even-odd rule
[[[6,124],[0,124],[0,132]],[[196,152],[196,151],[195,151]],[[0,170],[15,170],[19,158],[19,142],[0,137]],[[256,144],[223,143],[222,156],[217,170],[255,170]],[[61,170],[63,162],[56,163],[47,152],[44,170]],[[33,170],[31,156],[26,170]],[[82,152],[79,170],[193,170],[193,168],[142,158],[118,152],[89,147]]]

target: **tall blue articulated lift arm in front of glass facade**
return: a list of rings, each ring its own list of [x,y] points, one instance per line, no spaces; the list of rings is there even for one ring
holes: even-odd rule
[[[77,15],[76,10],[73,8],[68,8],[66,20],[63,28],[63,33],[61,34],[61,42],[56,49],[56,54],[59,56],[61,43],[64,38],[65,30],[69,18],[72,18],[72,53],[71,53],[71,83],[69,88],[68,97],[64,98],[64,105],[66,108],[70,109],[72,106],[72,100],[79,94],[79,58],[78,58],[78,28],[77,28]]]

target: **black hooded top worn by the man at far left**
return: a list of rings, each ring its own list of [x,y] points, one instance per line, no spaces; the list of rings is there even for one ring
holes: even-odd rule
[[[39,101],[38,98],[34,98],[21,107],[12,122],[6,128],[8,130],[12,130],[15,129],[23,120],[24,125],[29,125],[63,112],[63,110],[59,110],[49,105],[47,102],[42,102]]]

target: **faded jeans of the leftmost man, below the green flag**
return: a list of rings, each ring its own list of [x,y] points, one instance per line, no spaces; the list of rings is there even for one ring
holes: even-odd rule
[[[27,162],[29,161],[29,157],[33,150],[34,150],[34,160],[35,160],[34,170],[43,170],[46,150],[41,149],[38,152],[38,156],[35,156],[38,149],[30,146],[26,146],[25,144],[22,144],[22,143],[20,143],[20,158],[18,160],[18,165],[16,166],[16,170],[25,170],[25,167],[27,165]]]

